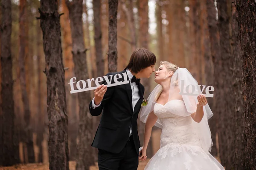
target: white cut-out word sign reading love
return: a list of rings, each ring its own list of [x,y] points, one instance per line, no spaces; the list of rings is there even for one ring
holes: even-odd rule
[[[203,89],[201,90],[201,85],[197,85],[197,87],[195,87],[194,85],[189,84],[188,86],[186,86],[186,89],[185,89],[186,92],[183,92],[183,90],[184,90],[184,80],[181,80],[180,95],[198,96],[199,92],[200,92],[200,94],[203,94],[203,91],[205,89],[206,94],[204,96],[209,97],[209,98],[213,98],[213,94],[210,94],[209,91],[214,91],[214,87],[213,86],[207,86],[206,88],[205,87],[206,86],[203,86]],[[197,88],[197,92],[195,92],[195,88]]]

